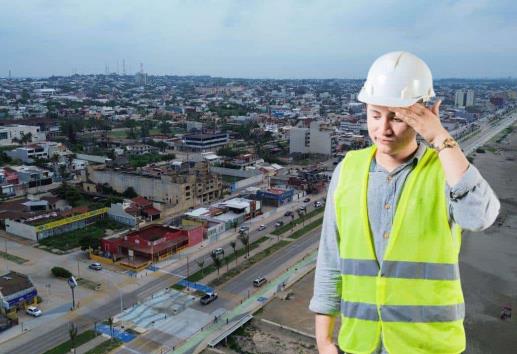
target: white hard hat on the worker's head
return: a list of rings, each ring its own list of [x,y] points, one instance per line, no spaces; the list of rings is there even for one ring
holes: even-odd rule
[[[427,64],[411,53],[391,52],[372,64],[357,99],[378,106],[408,107],[434,96]]]

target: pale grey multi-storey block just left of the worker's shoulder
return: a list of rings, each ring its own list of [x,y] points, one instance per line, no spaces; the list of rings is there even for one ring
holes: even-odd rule
[[[337,133],[328,123],[313,121],[309,128],[290,130],[289,153],[333,155],[337,147]]]

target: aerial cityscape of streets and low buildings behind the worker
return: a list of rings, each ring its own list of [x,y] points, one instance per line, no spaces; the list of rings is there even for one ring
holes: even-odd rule
[[[0,60],[0,353],[317,353],[327,192],[374,144],[358,93],[382,52],[320,78]],[[463,233],[466,352],[511,353],[517,79],[438,74],[434,92],[501,202]]]

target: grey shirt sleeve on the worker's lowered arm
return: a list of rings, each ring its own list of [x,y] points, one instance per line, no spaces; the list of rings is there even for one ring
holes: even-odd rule
[[[339,269],[339,238],[334,207],[334,191],[339,180],[341,163],[337,165],[327,192],[321,238],[314,277],[314,294],[309,310],[337,315],[341,305],[341,272]]]

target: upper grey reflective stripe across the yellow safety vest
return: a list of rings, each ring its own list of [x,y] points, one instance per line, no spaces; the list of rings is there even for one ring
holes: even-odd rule
[[[340,259],[342,275],[377,276],[379,265],[375,260]],[[381,276],[388,278],[457,280],[460,270],[457,264],[384,261]]]

